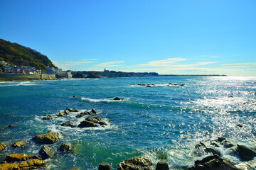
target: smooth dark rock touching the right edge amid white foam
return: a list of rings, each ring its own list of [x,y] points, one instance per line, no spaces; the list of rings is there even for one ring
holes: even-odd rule
[[[237,153],[242,161],[245,162],[250,161],[256,157],[255,149],[250,149],[249,147],[245,147],[243,145],[238,145],[238,147],[235,148],[235,153]]]

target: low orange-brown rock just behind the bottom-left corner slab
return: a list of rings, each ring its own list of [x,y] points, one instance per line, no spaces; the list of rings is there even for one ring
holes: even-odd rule
[[[28,161],[30,159],[42,159],[39,154],[9,154],[6,155],[6,159],[4,159],[4,162],[6,163],[13,163],[13,162],[24,162]]]

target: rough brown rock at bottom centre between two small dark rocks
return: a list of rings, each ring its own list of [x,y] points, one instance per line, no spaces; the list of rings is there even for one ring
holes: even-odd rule
[[[118,170],[152,170],[152,161],[148,157],[132,157],[117,164]]]

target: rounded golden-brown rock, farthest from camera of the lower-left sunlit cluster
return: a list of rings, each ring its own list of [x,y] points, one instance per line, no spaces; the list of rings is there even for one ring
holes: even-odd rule
[[[59,136],[58,132],[48,132],[43,135],[36,135],[33,140],[41,144],[53,144],[60,140]]]

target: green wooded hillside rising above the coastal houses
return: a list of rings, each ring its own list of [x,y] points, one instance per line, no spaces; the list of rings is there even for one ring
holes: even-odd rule
[[[8,62],[14,65],[24,65],[36,67],[36,69],[46,70],[46,66],[55,67],[46,55],[24,47],[18,43],[12,43],[0,39],[0,61]]]

